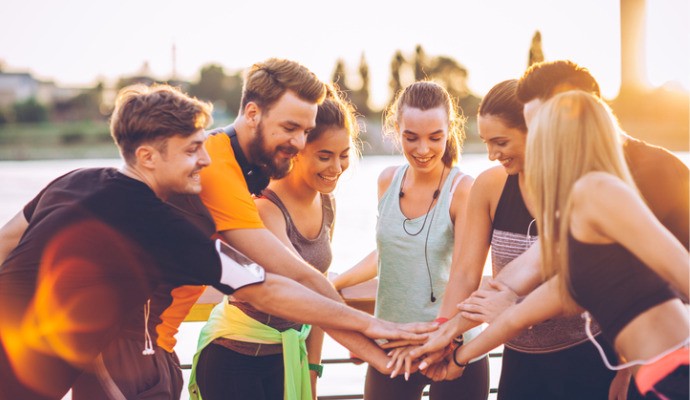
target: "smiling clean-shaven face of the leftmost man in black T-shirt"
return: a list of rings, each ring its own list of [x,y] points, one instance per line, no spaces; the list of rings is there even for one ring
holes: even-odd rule
[[[203,129],[183,137],[172,136],[160,146],[156,157],[154,180],[162,198],[170,194],[198,194],[201,192],[199,171],[211,163],[204,148]]]

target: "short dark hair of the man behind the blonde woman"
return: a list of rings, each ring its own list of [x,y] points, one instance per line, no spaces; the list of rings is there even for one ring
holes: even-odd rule
[[[599,84],[589,70],[570,60],[532,65],[520,77],[516,95],[523,104],[534,99],[548,100],[559,92],[559,86],[568,86],[569,90],[578,89],[601,97]]]

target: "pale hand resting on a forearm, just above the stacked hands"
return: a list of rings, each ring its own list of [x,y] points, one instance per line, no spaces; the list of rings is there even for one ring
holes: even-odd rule
[[[518,295],[501,281],[490,279],[488,287],[479,289],[458,304],[463,318],[491,323],[508,307],[515,304]]]

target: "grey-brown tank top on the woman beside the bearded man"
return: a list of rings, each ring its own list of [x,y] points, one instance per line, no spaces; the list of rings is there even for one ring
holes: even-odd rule
[[[267,200],[278,206],[280,211],[283,213],[288,238],[290,238],[290,243],[292,243],[292,245],[295,247],[295,250],[297,250],[300,257],[302,257],[304,261],[308,262],[319,271],[325,273],[328,270],[328,267],[331,265],[331,260],[333,259],[333,255],[331,253],[331,232],[333,231],[335,202],[332,195],[321,194],[321,231],[316,238],[308,239],[302,236],[302,234],[297,230],[290,213],[275,192],[270,189],[265,189],[261,194]],[[263,313],[249,303],[234,301],[232,299],[230,303],[242,310],[243,313],[247,314],[251,318],[281,332],[291,328],[297,331],[302,329],[302,324]],[[266,356],[271,354],[280,354],[283,352],[283,346],[281,344],[258,344],[226,338],[218,338],[213,342],[238,353],[250,356]]]

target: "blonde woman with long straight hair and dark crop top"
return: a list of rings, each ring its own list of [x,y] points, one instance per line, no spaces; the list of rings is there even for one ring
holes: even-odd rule
[[[454,362],[494,348],[525,327],[580,312],[650,398],[688,398],[688,252],[652,214],[625,163],[608,107],[580,91],[556,95],[538,111],[527,139],[528,196],[548,281],[502,313]]]

